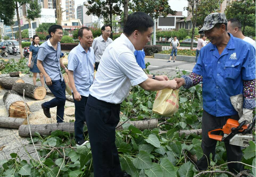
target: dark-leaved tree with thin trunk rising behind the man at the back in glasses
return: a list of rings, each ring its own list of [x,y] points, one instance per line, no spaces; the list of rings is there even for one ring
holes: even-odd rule
[[[113,15],[121,15],[123,1],[119,0],[88,0],[88,4],[85,4],[85,7],[88,8],[86,12],[87,15],[96,15],[97,17],[102,16],[104,22],[109,24],[112,31],[112,17]],[[113,38],[113,35],[110,35],[110,38]]]

